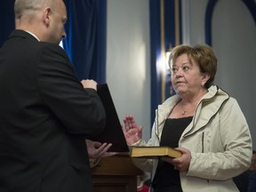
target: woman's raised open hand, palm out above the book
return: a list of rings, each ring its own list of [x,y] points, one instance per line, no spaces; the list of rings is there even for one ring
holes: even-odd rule
[[[132,115],[124,116],[124,137],[128,145],[132,145],[142,138],[142,126],[138,126]]]

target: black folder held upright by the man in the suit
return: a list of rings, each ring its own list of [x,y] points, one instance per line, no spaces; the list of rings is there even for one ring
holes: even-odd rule
[[[112,143],[113,145],[109,148],[109,152],[128,152],[129,148],[124,138],[124,132],[117,116],[116,108],[108,89],[108,84],[98,84],[97,92],[105,108],[107,122],[104,131],[92,138],[92,140],[97,140],[101,143]]]

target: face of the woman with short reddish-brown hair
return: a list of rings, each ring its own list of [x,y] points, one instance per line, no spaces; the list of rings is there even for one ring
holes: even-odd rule
[[[181,54],[172,66],[172,86],[179,95],[196,95],[209,79],[205,73],[201,73],[195,60],[188,60],[186,53]]]

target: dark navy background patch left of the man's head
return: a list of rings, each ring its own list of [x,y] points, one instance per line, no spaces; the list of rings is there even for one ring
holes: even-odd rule
[[[0,2],[0,47],[15,28],[13,4],[15,0]]]

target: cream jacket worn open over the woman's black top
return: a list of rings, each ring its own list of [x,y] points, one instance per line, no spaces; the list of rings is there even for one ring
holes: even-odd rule
[[[133,146],[159,146],[166,118],[179,102],[174,95],[158,106],[151,139]],[[158,139],[159,138],[159,139]],[[196,107],[192,122],[182,133],[180,148],[191,152],[188,172],[180,172],[184,192],[239,192],[232,178],[247,170],[252,159],[252,138],[234,98],[212,85]],[[156,172],[156,159],[133,159],[146,172]]]

